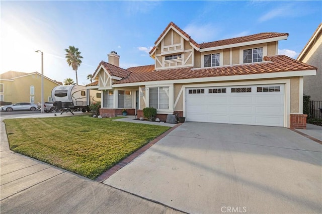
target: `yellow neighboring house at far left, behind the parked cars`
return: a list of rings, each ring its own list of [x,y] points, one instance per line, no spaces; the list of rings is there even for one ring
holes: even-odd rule
[[[51,90],[61,82],[44,76],[44,101],[52,101]],[[8,71],[0,74],[1,101],[41,102],[41,74]]]

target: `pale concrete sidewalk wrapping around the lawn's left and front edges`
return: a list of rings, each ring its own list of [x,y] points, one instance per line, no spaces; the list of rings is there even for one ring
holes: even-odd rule
[[[81,114],[81,113],[76,113]],[[56,117],[72,116],[70,113]],[[4,118],[54,117],[28,114]],[[9,150],[1,121],[2,213],[179,213],[102,183],[75,175]]]

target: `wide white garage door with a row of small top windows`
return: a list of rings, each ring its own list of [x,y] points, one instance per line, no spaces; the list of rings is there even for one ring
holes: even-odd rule
[[[186,88],[186,120],[284,126],[284,85]]]

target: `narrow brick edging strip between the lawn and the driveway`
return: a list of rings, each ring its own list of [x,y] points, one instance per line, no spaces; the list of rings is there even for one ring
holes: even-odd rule
[[[126,166],[128,163],[130,163],[132,160],[134,160],[138,156],[140,156],[143,152],[145,152],[147,149],[149,149],[151,146],[153,146],[159,140],[161,140],[164,137],[166,137],[170,132],[172,132],[173,130],[175,130],[180,125],[182,125],[182,123],[179,123],[176,126],[168,129],[166,132],[160,134],[159,136],[157,136],[156,138],[154,138],[152,141],[148,142],[147,144],[145,144],[144,146],[142,146],[140,149],[136,150],[135,152],[133,152],[132,154],[130,154],[129,156],[127,156],[126,158],[124,158],[123,160],[121,160],[120,162],[118,162],[117,164],[115,164],[114,166],[112,166],[106,172],[104,172],[103,174],[101,174],[100,176],[98,176],[95,179],[95,181],[100,182],[100,183],[103,183],[111,175],[113,175],[115,172],[117,172],[118,170],[120,170],[121,168],[123,168],[124,166]]]

